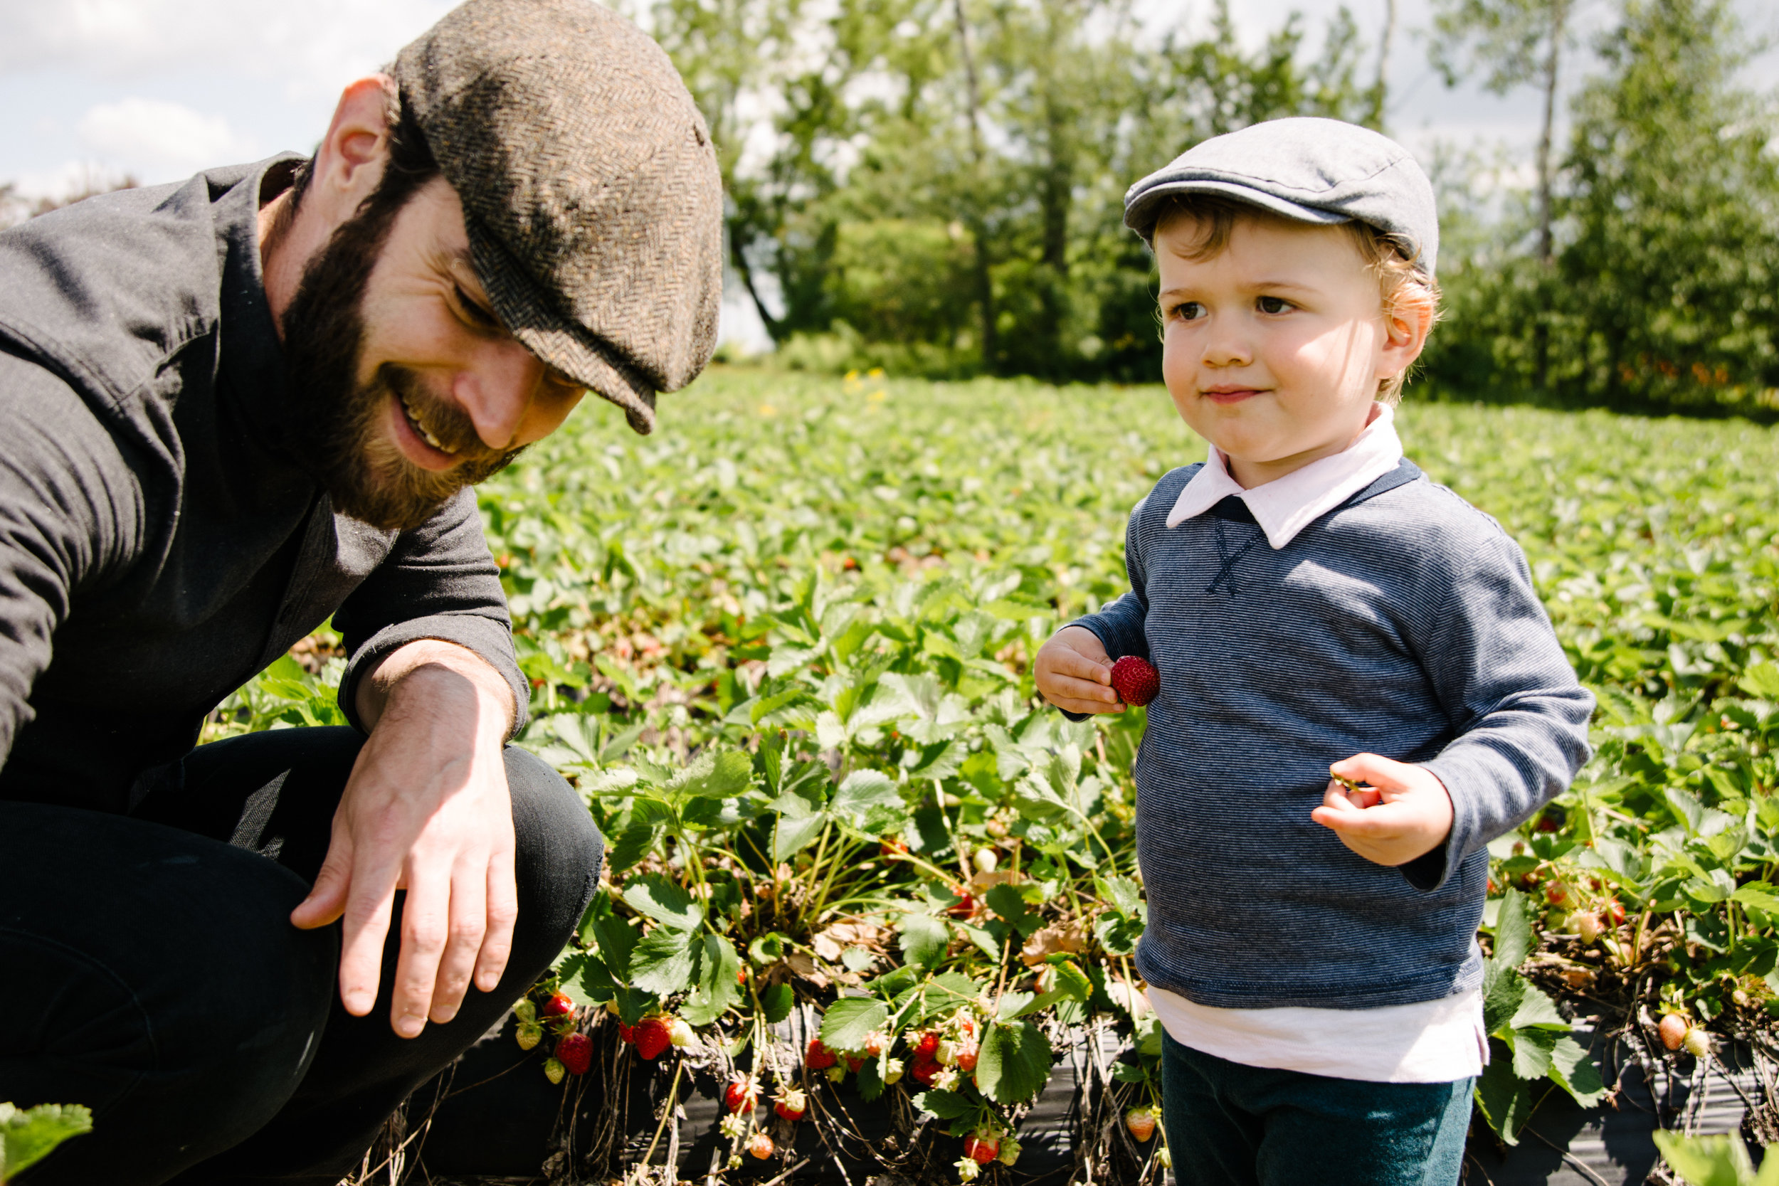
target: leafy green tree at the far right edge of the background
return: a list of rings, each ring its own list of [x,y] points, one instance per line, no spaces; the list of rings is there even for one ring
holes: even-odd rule
[[[1745,44],[1726,0],[1626,0],[1599,44],[1558,203],[1573,400],[1752,409],[1779,388],[1779,123],[1736,84]]]

